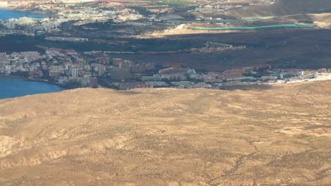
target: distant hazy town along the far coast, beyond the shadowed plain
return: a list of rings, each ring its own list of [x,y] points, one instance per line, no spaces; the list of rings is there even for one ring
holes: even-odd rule
[[[1,20],[4,25],[0,29],[0,37],[6,35],[45,35],[50,37],[79,37],[77,33],[61,29],[63,23],[81,26],[82,30],[91,31],[89,23],[106,23],[112,21],[117,26],[132,27],[176,27],[180,23],[223,22],[236,23],[238,20],[225,20],[222,16],[208,16],[215,12],[228,11],[243,6],[273,4],[273,0],[252,0],[243,2],[227,1],[151,1],[137,3],[121,3],[117,1],[15,1],[0,2],[0,8],[13,11],[40,13],[37,18],[22,17]],[[174,6],[175,5],[175,6]],[[185,10],[185,11],[183,11]],[[186,18],[182,17],[185,12]],[[207,13],[202,16],[199,13]],[[1,24],[0,24],[1,25]],[[148,30],[148,27],[145,27]],[[117,35],[132,35],[128,30],[120,30]],[[116,35],[116,36],[117,36]],[[100,35],[101,36],[101,35]],[[96,37],[96,36],[95,36]]]

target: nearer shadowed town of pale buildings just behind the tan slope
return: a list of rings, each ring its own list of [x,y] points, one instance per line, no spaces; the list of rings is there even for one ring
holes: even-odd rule
[[[170,63],[135,63],[112,58],[105,51],[79,53],[71,49],[44,48],[37,51],[0,54],[0,74],[21,75],[66,88],[110,87],[134,89],[153,87],[225,89],[235,85],[268,85],[330,77],[331,69],[274,69],[270,65],[250,66],[223,72],[197,73],[192,68]]]

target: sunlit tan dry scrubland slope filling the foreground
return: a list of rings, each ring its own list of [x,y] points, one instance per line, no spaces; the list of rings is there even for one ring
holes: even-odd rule
[[[330,185],[331,81],[0,100],[0,185]]]

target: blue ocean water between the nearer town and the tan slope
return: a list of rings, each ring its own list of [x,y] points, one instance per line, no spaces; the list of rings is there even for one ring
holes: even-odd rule
[[[23,97],[31,94],[60,92],[62,90],[64,90],[62,87],[45,82],[32,82],[0,77],[0,99]]]

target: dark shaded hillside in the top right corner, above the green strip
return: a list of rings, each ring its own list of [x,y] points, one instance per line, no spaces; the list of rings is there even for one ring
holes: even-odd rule
[[[246,6],[227,11],[237,18],[260,16],[288,16],[297,13],[323,13],[331,11],[330,0],[278,0],[272,5]]]

